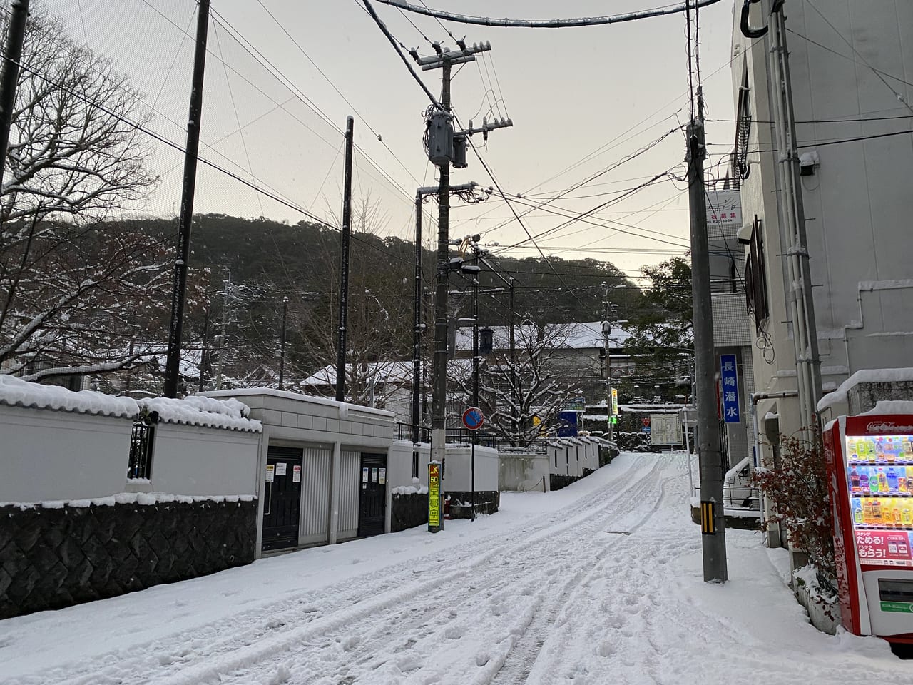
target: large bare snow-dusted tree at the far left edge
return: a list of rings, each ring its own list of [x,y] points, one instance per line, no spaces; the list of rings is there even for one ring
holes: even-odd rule
[[[129,350],[163,321],[164,239],[116,221],[156,184],[139,130],[149,119],[109,58],[79,45],[59,17],[33,10],[0,192],[6,373],[92,374],[151,353]]]

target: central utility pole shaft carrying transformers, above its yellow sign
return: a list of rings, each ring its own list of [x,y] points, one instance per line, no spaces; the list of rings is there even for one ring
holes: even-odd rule
[[[450,111],[450,63],[441,65],[441,106]],[[446,391],[447,391],[447,283],[449,276],[450,163],[438,166],[437,188],[437,269],[435,273],[435,359],[431,395],[431,459],[441,468],[446,457]],[[443,490],[443,489],[442,489]]]

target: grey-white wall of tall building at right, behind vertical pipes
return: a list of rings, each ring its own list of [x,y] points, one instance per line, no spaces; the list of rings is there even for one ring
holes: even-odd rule
[[[751,7],[752,26],[761,26],[770,0]],[[873,137],[911,129],[910,119],[884,118],[911,114],[897,96],[913,102],[913,88],[898,80],[913,82],[913,3],[820,0],[815,7],[826,21],[810,5],[788,5],[787,40],[800,152],[820,158],[814,175],[801,181],[822,377],[825,387],[832,387],[859,369],[908,366],[913,354],[913,308],[908,306],[913,262],[902,247],[913,216],[913,135]],[[753,371],[759,392],[777,393],[795,389],[795,356],[784,322],[790,318],[790,284],[782,255],[789,243],[781,236],[775,201],[777,153],[771,124],[762,123],[772,121],[774,113],[768,99],[769,37],[742,37],[739,14],[734,15],[733,87],[738,94],[747,70],[753,116],[742,213],[746,222],[756,214],[763,222],[771,305],[767,332],[774,351],[768,363],[753,347]],[[897,79],[880,78],[873,69]],[[866,140],[833,143],[854,138]],[[774,405],[782,433],[795,431],[796,400],[764,400],[759,415]]]

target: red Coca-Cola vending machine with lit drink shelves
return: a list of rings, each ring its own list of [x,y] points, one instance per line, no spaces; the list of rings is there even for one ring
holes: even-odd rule
[[[913,416],[840,416],[824,455],[844,627],[913,643]]]

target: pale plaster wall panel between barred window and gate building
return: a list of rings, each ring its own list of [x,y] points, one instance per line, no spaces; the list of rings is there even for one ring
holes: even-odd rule
[[[257,492],[260,434],[160,423],[155,427],[150,490],[175,495]]]

